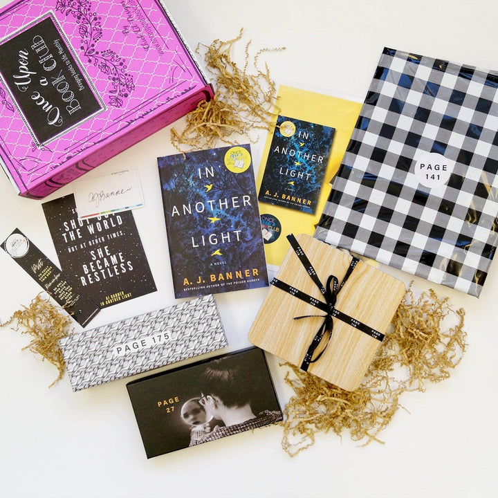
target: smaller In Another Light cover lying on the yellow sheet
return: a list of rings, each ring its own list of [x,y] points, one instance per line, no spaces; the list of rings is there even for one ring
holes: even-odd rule
[[[314,214],[335,129],[279,115],[259,201]]]

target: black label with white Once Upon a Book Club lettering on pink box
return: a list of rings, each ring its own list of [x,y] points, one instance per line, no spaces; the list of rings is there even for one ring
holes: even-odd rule
[[[0,73],[38,146],[104,109],[50,13],[0,44]]]

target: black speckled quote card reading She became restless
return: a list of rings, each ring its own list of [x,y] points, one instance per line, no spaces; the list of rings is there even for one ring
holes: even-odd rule
[[[156,291],[133,212],[80,220],[73,194],[42,207],[62,270],[100,308]]]

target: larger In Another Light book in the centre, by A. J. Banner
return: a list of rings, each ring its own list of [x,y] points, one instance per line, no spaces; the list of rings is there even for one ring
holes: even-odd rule
[[[268,286],[249,145],[158,158],[176,298]]]

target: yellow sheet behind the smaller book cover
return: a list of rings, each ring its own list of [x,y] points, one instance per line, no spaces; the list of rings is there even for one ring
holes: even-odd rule
[[[338,172],[342,156],[351,138],[351,133],[358,120],[362,104],[323,95],[311,91],[279,87],[277,111],[279,116],[288,116],[295,120],[322,124],[331,127],[333,133],[332,147],[326,165],[324,181],[318,196],[316,210],[313,213],[289,209],[260,201],[261,227],[265,241],[266,262],[268,265],[280,266],[288,250],[287,235],[315,233],[315,225],[320,220],[326,200],[331,191],[331,181]],[[277,124],[277,116],[273,130]],[[270,155],[274,131],[268,133],[257,175],[257,189],[261,188],[266,163]]]

